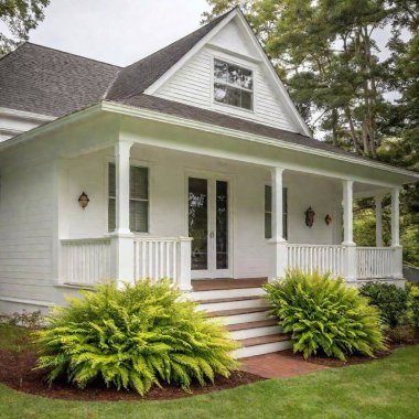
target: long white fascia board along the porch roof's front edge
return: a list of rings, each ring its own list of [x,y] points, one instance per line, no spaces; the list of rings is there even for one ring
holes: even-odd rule
[[[378,161],[362,160],[348,154],[333,153],[326,150],[315,149],[309,146],[301,146],[301,144],[297,144],[297,143],[292,143],[292,142],[288,142],[288,141],[283,141],[279,139],[272,139],[269,137],[264,137],[264,136],[259,136],[255,133],[239,131],[239,130],[235,130],[230,128],[224,128],[224,127],[219,127],[219,126],[215,126],[215,125],[211,125],[206,122],[200,122],[200,121],[183,118],[183,117],[162,114],[155,110],[137,108],[137,107],[128,106],[128,105],[121,105],[115,101],[103,101],[101,109],[105,111],[117,112],[117,114],[121,114],[126,116],[153,120],[158,122],[176,125],[180,127],[192,128],[192,129],[212,132],[212,133],[219,133],[226,137],[239,138],[239,139],[258,142],[258,143],[262,143],[267,146],[278,147],[281,149],[300,151],[307,154],[313,154],[313,155],[324,157],[332,160],[344,161],[344,162],[348,162],[348,163],[353,163],[357,165],[364,165],[368,168],[384,170],[389,173],[407,176],[409,178],[409,182],[419,181],[419,173],[416,173],[406,169],[389,166]]]

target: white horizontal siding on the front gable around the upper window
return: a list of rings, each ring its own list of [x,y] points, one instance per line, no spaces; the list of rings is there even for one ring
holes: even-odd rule
[[[254,68],[255,77],[254,111],[244,111],[241,109],[235,109],[234,107],[219,104],[213,105],[212,62],[214,56],[219,56],[219,54],[210,47],[203,47],[160,89],[158,89],[155,96],[204,109],[229,114],[232,116],[237,116],[243,119],[288,131],[298,131],[294,122],[287,116],[283,106],[273,94],[273,88],[268,84],[261,64],[255,64],[254,62],[248,63],[249,67]],[[223,54],[221,58],[228,61],[225,54]],[[237,62],[237,58],[232,56],[230,62],[235,63]],[[243,61],[239,64],[246,65]]]

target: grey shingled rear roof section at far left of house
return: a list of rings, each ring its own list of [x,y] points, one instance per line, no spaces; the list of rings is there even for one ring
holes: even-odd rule
[[[26,42],[0,58],[0,107],[64,116],[100,101],[118,71]]]

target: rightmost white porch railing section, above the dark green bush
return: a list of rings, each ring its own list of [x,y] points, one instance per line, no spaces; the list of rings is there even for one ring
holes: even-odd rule
[[[390,247],[357,247],[357,277],[386,278],[395,272],[395,250]]]

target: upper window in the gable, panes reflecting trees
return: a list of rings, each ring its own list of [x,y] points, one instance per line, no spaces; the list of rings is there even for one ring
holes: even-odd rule
[[[253,110],[254,74],[251,69],[214,60],[214,100]]]

